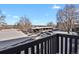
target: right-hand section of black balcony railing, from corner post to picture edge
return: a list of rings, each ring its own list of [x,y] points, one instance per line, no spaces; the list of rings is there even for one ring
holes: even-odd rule
[[[77,54],[79,45],[79,36],[77,35],[66,35],[57,34],[58,38],[58,49],[60,54]]]

